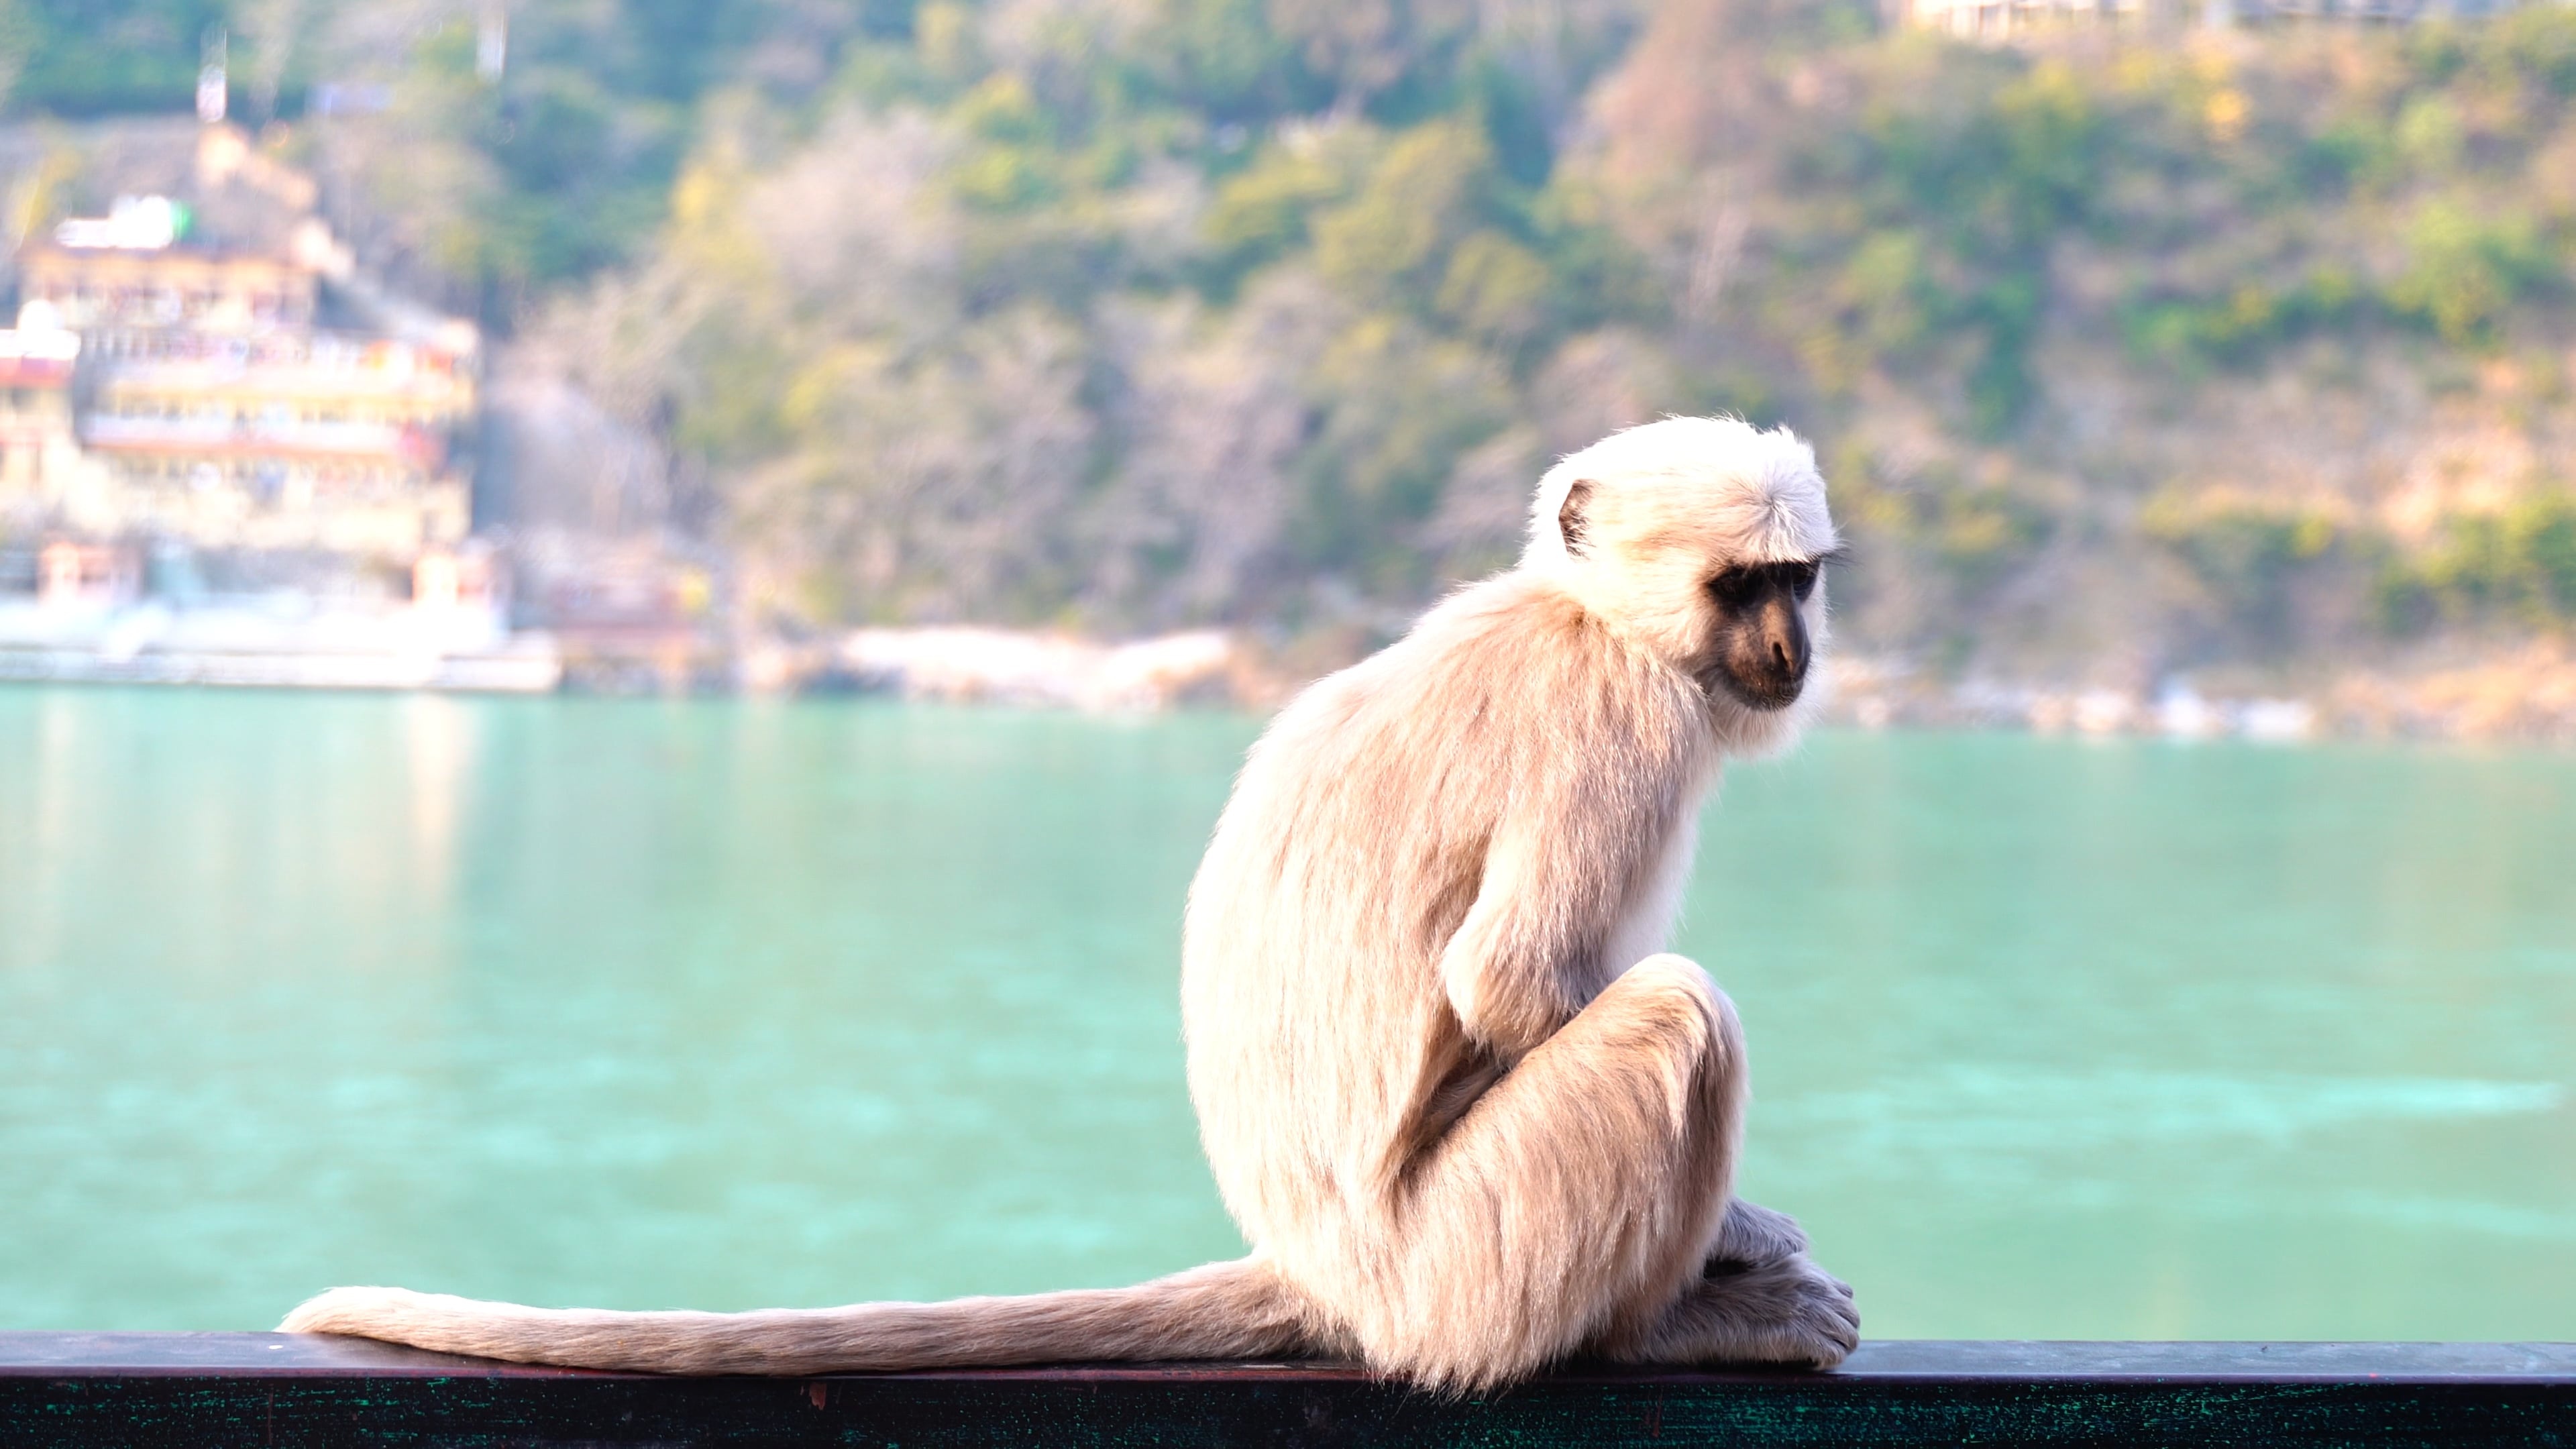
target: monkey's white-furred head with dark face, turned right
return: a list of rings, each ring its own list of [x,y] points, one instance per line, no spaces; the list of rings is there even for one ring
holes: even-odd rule
[[[1687,670],[1728,735],[1765,748],[1808,696],[1839,547],[1816,454],[1788,428],[1664,418],[1548,469],[1522,567]]]

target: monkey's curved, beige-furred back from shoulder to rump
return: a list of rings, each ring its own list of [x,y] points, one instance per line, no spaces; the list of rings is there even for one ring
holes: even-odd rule
[[[1257,1245],[1360,1248],[1334,1240],[1471,1055],[1440,954],[1504,804],[1605,732],[1667,732],[1646,753],[1698,768],[1690,699],[1571,598],[1510,572],[1278,714],[1208,843],[1182,941],[1190,1096]]]

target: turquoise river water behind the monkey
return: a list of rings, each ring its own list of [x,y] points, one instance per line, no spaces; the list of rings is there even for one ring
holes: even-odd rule
[[[1180,900],[1255,722],[0,691],[0,1328],[1229,1256]],[[2576,1338],[2576,758],[1821,735],[1680,946],[1878,1336]]]

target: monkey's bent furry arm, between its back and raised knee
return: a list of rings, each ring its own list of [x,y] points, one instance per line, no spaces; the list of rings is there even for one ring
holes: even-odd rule
[[[1571,750],[1574,758],[1592,755]],[[1651,781],[1548,771],[1486,846],[1476,902],[1440,951],[1450,1008],[1517,1060],[1574,1018],[1628,962],[1602,951],[1672,830]]]

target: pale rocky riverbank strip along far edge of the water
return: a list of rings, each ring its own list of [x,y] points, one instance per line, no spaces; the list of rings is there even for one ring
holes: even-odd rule
[[[64,632],[10,629],[0,611],[0,681],[214,683],[263,688],[430,688],[546,694],[891,694],[925,704],[999,704],[1090,714],[1182,706],[1267,712],[1358,657],[1283,647],[1252,632],[1188,629],[1146,639],[1069,632],[925,627],[824,639],[752,639],[564,657],[546,634],[422,629],[412,611],[291,619],[258,611],[129,608]],[[75,637],[77,634],[77,637]],[[471,634],[471,637],[466,637]],[[2576,647],[2558,639],[2486,652],[2427,650],[2372,665],[2272,673],[2169,673],[2154,686],[1945,678],[1888,655],[1837,655],[1824,719],[1862,730],[2027,730],[2177,740],[2494,740],[2576,745]]]

